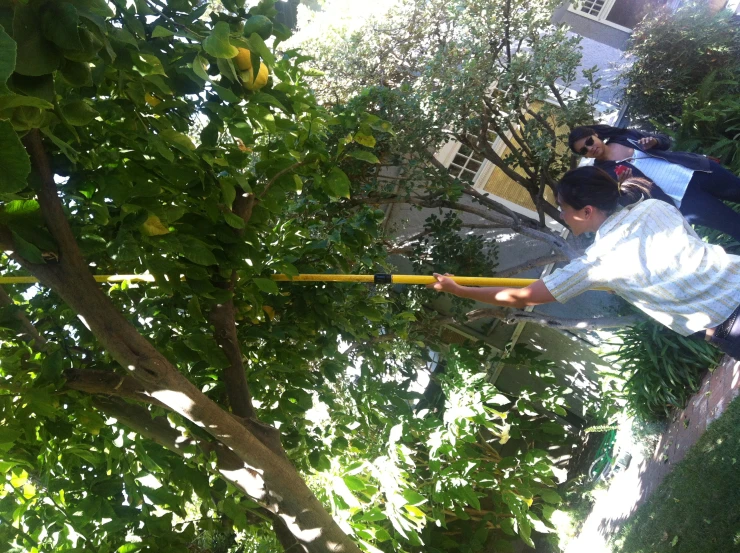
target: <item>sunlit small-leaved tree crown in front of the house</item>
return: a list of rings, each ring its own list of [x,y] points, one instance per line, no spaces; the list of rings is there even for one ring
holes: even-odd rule
[[[594,68],[577,93],[563,91],[581,55],[579,39],[551,24],[559,5],[405,0],[355,32],[323,32],[304,47],[324,74],[324,101],[341,103],[358,85],[380,89],[367,109],[393,124],[403,152],[423,159],[449,139],[462,142],[557,219],[544,194],[571,167],[568,128],[593,120],[599,87]],[[505,153],[489,147],[496,136]]]

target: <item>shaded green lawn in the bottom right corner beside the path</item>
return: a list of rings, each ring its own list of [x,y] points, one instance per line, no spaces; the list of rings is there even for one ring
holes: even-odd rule
[[[740,401],[627,521],[618,553],[740,552]]]

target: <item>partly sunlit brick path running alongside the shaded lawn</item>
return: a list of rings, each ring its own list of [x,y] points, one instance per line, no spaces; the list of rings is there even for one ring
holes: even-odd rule
[[[580,535],[566,553],[611,553],[607,539],[657,489],[673,466],[684,458],[730,402],[740,395],[740,361],[725,356],[712,373],[707,373],[699,392],[688,406],[677,412],[652,456],[633,453],[628,470],[612,480],[609,490],[594,504]]]

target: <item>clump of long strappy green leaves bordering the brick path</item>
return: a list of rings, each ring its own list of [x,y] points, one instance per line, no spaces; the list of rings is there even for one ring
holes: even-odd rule
[[[709,343],[687,338],[653,321],[618,331],[622,345],[607,355],[622,367],[622,394],[630,414],[659,421],[682,409],[699,389],[701,376],[721,354]]]

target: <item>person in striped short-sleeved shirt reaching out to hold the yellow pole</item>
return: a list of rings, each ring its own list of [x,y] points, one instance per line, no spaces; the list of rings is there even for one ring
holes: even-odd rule
[[[518,308],[608,288],[682,336],[705,335],[740,359],[740,256],[703,242],[674,206],[648,197],[639,182],[619,184],[598,168],[566,173],[557,200],[573,234],[595,233],[581,257],[526,288],[460,286],[436,273],[429,287]]]

